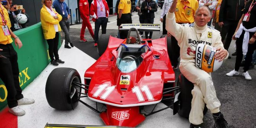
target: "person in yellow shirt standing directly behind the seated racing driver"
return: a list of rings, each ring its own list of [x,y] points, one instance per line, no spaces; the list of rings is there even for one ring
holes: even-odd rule
[[[175,9],[175,18],[176,23],[178,24],[186,24],[186,23],[194,23],[194,15],[196,14],[196,10],[198,8],[197,0],[178,0],[177,6]],[[167,28],[167,26],[165,26]],[[167,36],[170,36],[170,33],[167,32]],[[171,51],[168,52],[170,61],[172,63],[173,69],[177,69],[178,67],[178,58],[180,57],[180,47],[178,46],[178,42],[174,37],[171,37]]]

